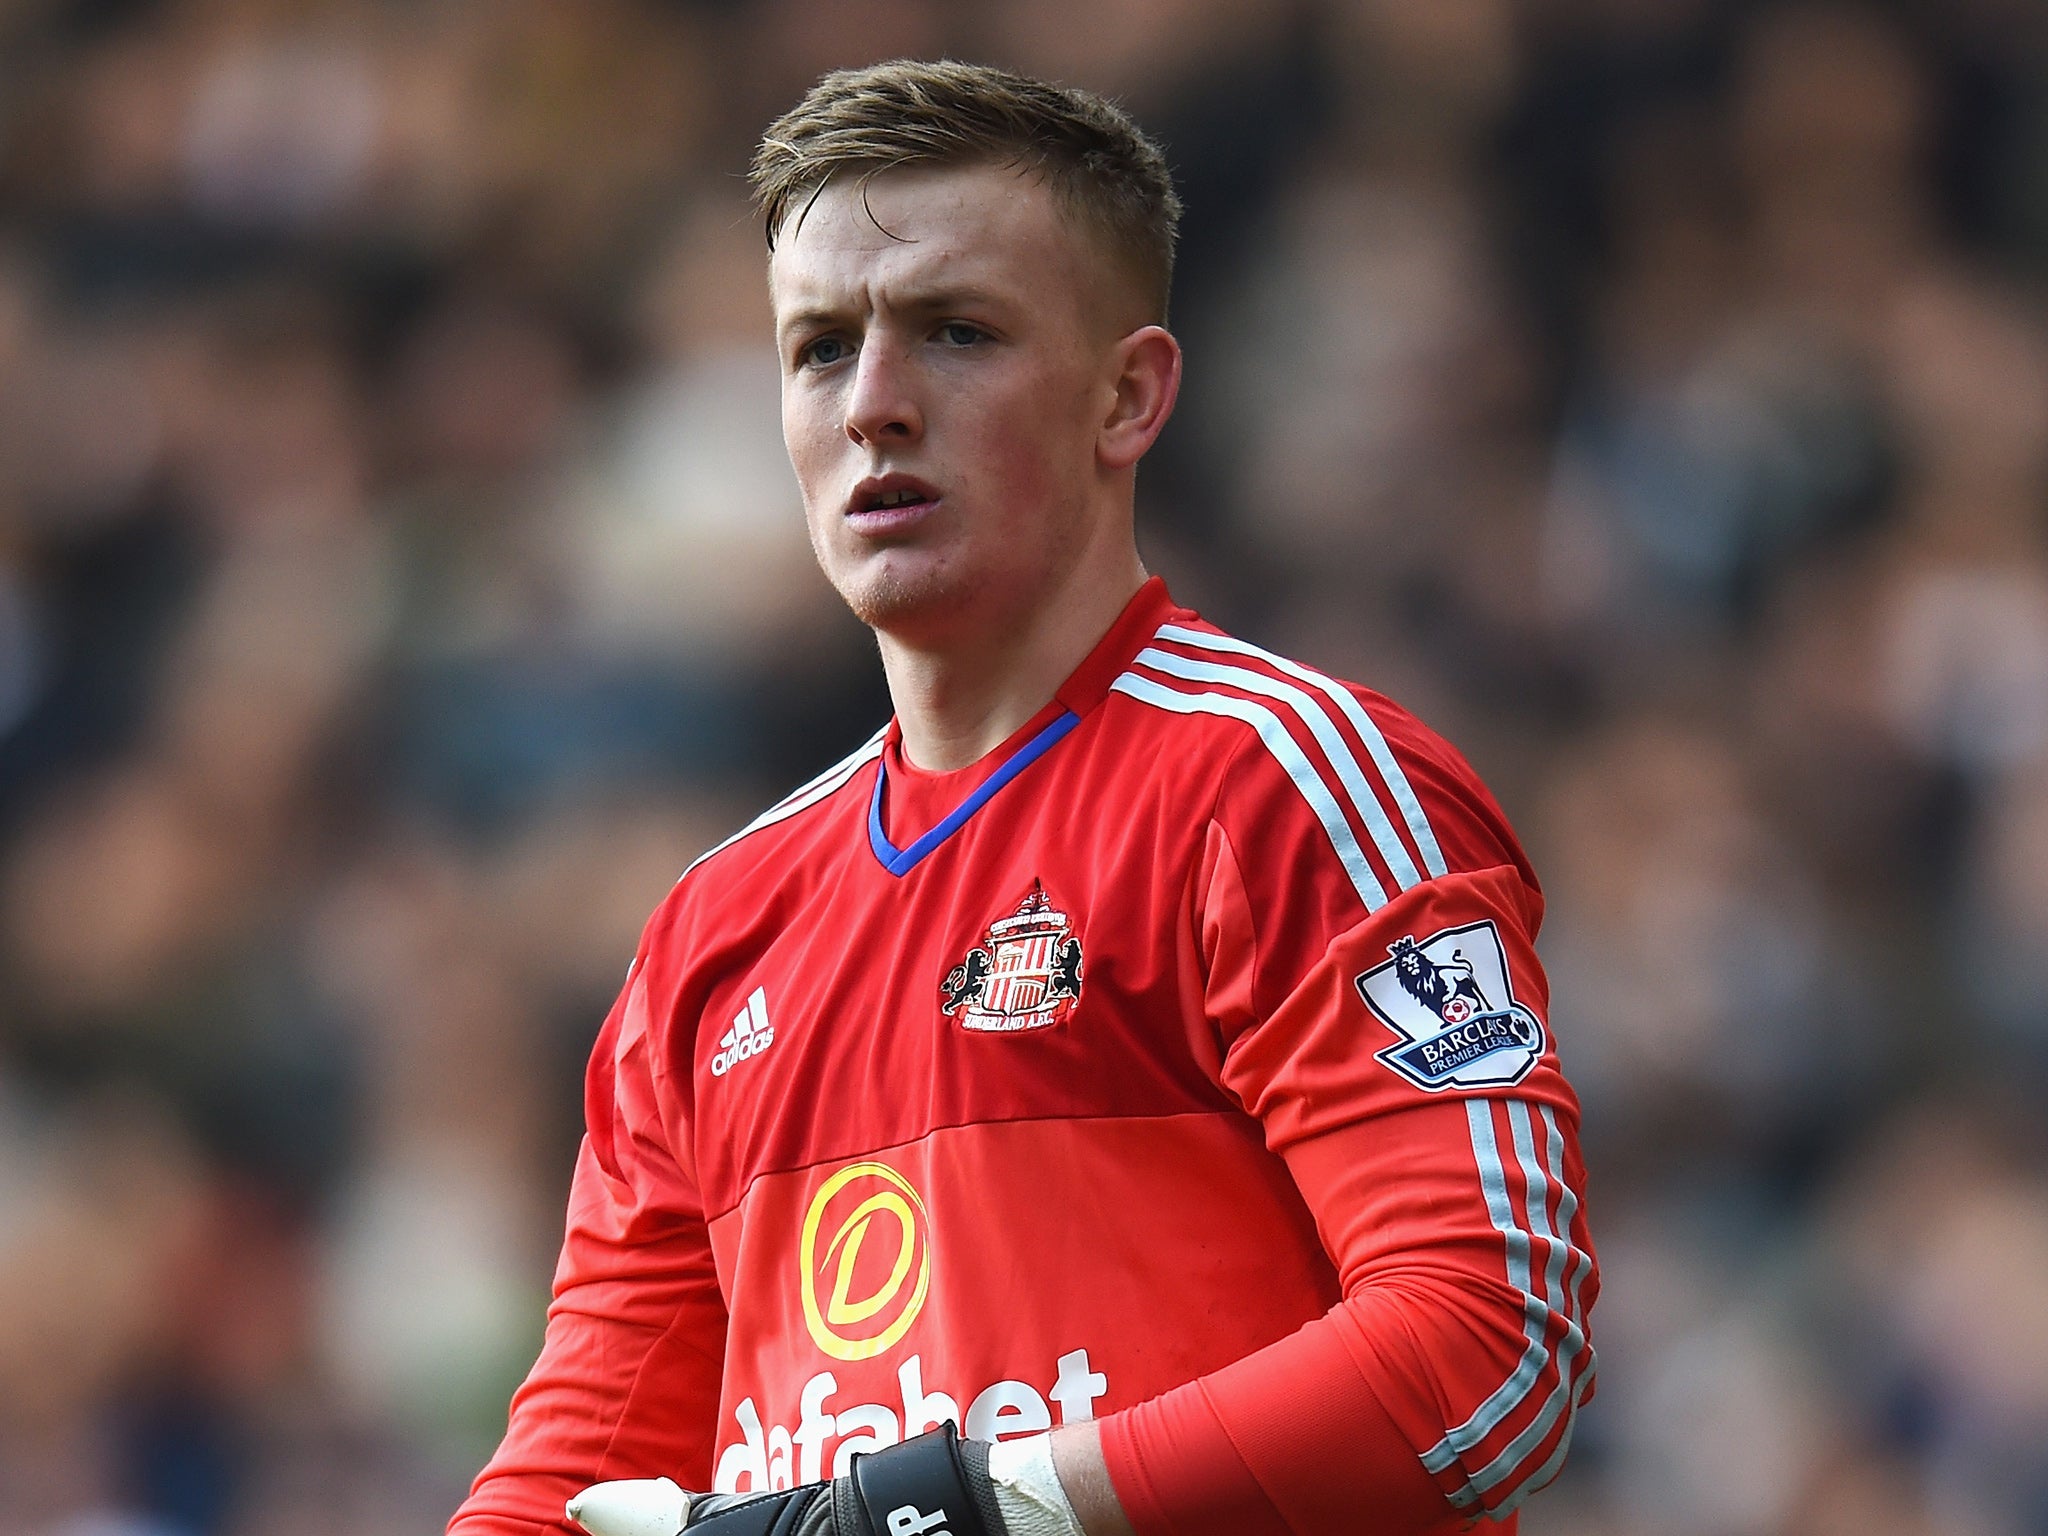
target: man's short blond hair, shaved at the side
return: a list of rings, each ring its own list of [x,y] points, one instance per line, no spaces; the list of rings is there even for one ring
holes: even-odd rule
[[[1042,176],[1165,322],[1180,197],[1159,145],[1094,92],[952,59],[834,70],[768,127],[750,180],[774,250],[799,201],[840,174],[983,164]]]

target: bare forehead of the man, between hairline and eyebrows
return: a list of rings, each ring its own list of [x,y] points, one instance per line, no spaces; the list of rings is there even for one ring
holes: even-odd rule
[[[825,184],[776,231],[776,313],[854,295],[889,299],[973,285],[1024,299],[1071,291],[1085,240],[1053,190],[1016,166],[897,168]]]

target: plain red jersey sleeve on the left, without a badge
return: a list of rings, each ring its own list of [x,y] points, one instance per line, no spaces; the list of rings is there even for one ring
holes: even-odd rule
[[[649,932],[659,930],[662,915]],[[614,1477],[711,1485],[725,1303],[662,1083],[662,954],[635,958],[586,1079],[541,1358],[451,1536],[573,1532],[563,1501]]]

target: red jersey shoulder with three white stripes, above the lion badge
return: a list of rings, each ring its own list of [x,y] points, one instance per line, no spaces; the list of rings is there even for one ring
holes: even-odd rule
[[[1366,911],[1452,872],[1536,883],[1464,756],[1384,694],[1204,623],[1161,627],[1114,690],[1204,723],[1196,764],[1239,862],[1321,872]]]

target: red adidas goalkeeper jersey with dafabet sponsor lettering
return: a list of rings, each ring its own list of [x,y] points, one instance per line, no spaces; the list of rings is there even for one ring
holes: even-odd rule
[[[891,725],[649,922],[453,1532],[940,1419],[1102,1419],[1141,1536],[1509,1516],[1599,1284],[1540,913],[1454,750],[1159,582],[979,764]]]

